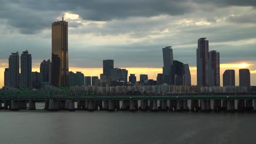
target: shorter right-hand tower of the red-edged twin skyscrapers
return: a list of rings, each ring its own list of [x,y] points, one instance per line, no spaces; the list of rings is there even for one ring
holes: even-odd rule
[[[208,86],[220,86],[219,52],[210,51],[208,58]]]

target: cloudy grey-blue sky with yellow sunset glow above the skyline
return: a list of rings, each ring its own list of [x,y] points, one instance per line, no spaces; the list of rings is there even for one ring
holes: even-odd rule
[[[252,0],[15,0],[0,2],[0,86],[11,52],[28,50],[33,71],[51,58],[51,23],[68,22],[69,70],[102,73],[102,60],[129,74],[162,73],[162,47],[188,63],[196,85],[197,39],[220,53],[220,83],[226,69],[248,68],[256,85],[256,1]],[[137,78],[138,80],[138,78]]]

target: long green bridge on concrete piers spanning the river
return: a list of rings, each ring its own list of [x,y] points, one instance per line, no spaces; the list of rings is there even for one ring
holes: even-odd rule
[[[44,101],[45,110],[129,110],[129,111],[256,111],[256,93],[183,93],[171,95],[96,95],[90,91],[72,91],[67,87],[5,87],[0,91],[3,109],[35,110]],[[28,107],[27,107],[28,103]]]

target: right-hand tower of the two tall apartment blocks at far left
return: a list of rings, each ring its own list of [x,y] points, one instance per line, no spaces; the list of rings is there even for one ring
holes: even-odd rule
[[[20,85],[21,87],[32,87],[32,57],[28,51],[23,51],[20,56]]]

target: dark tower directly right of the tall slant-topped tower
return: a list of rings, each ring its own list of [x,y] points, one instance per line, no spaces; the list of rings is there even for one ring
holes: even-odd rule
[[[173,75],[174,75],[174,85],[183,85],[183,75],[184,75],[184,65],[182,62],[173,61],[172,65]]]

